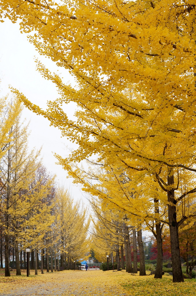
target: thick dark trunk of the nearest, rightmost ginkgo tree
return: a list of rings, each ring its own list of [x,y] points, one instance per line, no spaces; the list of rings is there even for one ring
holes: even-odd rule
[[[171,242],[171,262],[173,271],[173,282],[180,283],[184,282],[182,275],[182,267],[180,261],[180,247],[178,237],[178,224],[177,224],[177,213],[176,213],[176,200],[174,199],[174,173],[170,169],[167,176],[167,184],[170,186],[170,190],[167,192],[168,200],[168,220],[169,220],[169,231],[170,231],[170,242]]]

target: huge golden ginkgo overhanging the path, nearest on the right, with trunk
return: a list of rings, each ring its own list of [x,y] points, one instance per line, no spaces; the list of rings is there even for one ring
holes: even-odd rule
[[[27,107],[79,144],[59,162],[66,167],[69,160],[97,153],[100,161],[155,173],[167,193],[173,281],[183,281],[174,183],[179,168],[196,171],[195,5],[186,0],[3,0],[0,14],[2,21],[19,18],[40,54],[76,80],[75,88],[65,85],[38,62],[61,96],[48,102],[46,112],[16,91]],[[79,107],[75,121],[64,112],[69,102]]]

